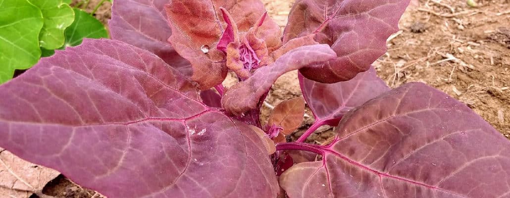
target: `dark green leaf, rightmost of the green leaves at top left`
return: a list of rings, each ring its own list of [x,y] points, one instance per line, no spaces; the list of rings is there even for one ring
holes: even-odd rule
[[[74,8],[74,16],[74,22],[65,30],[64,46],[77,46],[84,38],[108,38],[103,23],[89,13]]]

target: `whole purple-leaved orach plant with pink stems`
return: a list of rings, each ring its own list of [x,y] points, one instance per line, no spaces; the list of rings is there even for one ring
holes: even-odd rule
[[[298,0],[282,37],[259,0],[116,0],[113,40],[0,87],[0,146],[108,197],[510,197],[505,138],[448,95],[390,90],[370,67],[407,4]],[[303,100],[266,126],[259,114],[295,69],[316,122],[285,142]],[[225,89],[228,71],[240,82]],[[322,125],[333,141],[303,143]]]

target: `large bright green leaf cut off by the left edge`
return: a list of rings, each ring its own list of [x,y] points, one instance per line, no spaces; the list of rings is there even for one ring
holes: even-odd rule
[[[0,83],[12,79],[15,69],[27,69],[41,56],[41,10],[28,0],[0,0]]]

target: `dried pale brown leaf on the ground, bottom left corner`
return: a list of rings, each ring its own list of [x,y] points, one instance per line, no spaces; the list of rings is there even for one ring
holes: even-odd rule
[[[59,176],[56,170],[24,161],[0,148],[0,197],[28,198]]]

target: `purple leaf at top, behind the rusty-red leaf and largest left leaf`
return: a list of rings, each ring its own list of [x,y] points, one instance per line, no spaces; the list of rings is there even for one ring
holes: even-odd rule
[[[190,63],[167,41],[172,35],[165,13],[168,0],[114,1],[109,21],[112,39],[148,50],[170,66],[191,76]]]

